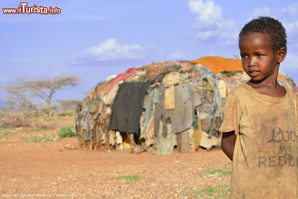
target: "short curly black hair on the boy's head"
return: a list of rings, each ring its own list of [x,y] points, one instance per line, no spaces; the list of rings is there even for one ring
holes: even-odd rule
[[[271,38],[273,52],[276,53],[281,47],[287,48],[287,34],[285,28],[277,19],[271,17],[259,17],[249,21],[241,29],[239,40],[242,36],[250,33],[266,33]]]

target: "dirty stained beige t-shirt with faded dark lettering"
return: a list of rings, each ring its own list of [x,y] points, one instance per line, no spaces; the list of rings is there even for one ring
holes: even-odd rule
[[[229,93],[220,132],[235,131],[230,198],[298,198],[297,96],[242,84]]]

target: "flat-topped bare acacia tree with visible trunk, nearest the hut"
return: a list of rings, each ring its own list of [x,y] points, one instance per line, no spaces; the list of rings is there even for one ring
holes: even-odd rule
[[[81,78],[76,75],[58,75],[51,79],[36,78],[33,80],[19,79],[22,82],[22,86],[25,87],[30,93],[38,96],[46,102],[46,110],[49,116],[52,116],[51,100],[53,94],[58,90],[66,90],[69,87],[77,86]]]

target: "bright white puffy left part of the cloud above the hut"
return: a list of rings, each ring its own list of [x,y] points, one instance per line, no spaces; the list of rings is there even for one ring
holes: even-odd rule
[[[113,38],[98,46],[90,47],[84,53],[96,58],[97,61],[138,59],[144,54],[144,49],[139,44],[117,44],[117,40]]]

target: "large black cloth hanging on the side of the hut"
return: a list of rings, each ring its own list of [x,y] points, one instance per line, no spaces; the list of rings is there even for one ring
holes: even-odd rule
[[[124,82],[114,98],[110,130],[118,130],[139,135],[142,107],[149,83]]]

